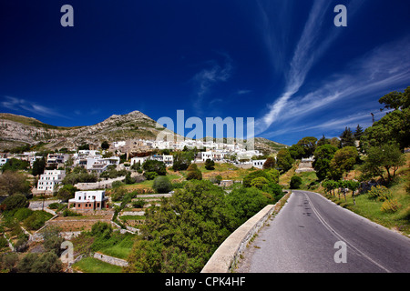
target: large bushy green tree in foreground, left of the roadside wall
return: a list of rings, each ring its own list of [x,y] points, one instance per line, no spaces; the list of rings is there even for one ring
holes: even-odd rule
[[[126,272],[199,272],[239,226],[223,190],[210,181],[190,181],[146,212]]]

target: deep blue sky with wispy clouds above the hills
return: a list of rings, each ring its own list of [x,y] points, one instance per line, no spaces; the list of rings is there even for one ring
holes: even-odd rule
[[[66,4],[74,27],[60,25]],[[5,0],[0,112],[73,126],[184,110],[254,117],[257,136],[287,145],[338,136],[410,85],[409,14],[403,0]]]

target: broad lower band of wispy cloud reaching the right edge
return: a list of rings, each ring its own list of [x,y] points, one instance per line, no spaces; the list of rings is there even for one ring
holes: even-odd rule
[[[281,122],[295,122],[337,102],[348,104],[361,96],[380,94],[385,88],[410,82],[409,51],[410,38],[374,48],[347,65],[345,73],[332,75],[316,90],[289,100]]]

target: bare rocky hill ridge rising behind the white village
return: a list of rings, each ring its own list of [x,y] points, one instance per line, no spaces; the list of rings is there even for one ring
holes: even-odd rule
[[[97,125],[64,127],[47,125],[35,118],[22,115],[0,114],[0,152],[23,145],[41,145],[42,149],[101,145],[121,140],[155,140],[162,135],[175,135],[169,129],[157,124],[148,115],[133,111],[127,115],[112,115]],[[255,149],[264,154],[276,153],[285,145],[256,137]]]

